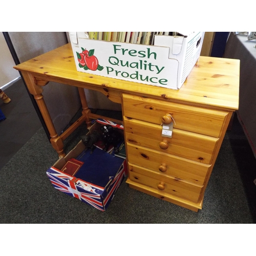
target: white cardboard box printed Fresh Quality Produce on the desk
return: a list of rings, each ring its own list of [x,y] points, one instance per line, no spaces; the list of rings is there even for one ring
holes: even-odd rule
[[[155,35],[149,46],[88,39],[85,32],[69,35],[77,71],[175,90],[195,66],[204,38],[204,32]]]

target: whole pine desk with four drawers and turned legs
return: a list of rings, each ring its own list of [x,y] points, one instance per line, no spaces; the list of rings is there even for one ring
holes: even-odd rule
[[[122,104],[130,187],[194,211],[202,208],[228,123],[238,110],[239,60],[200,56],[180,90],[78,72],[70,44],[15,69],[34,95],[59,156],[65,156],[63,139],[83,121],[90,125],[91,118],[105,118],[91,113],[83,88],[99,91]],[[44,102],[49,81],[79,88],[82,117],[61,135]],[[163,120],[173,122],[172,138],[162,136]]]

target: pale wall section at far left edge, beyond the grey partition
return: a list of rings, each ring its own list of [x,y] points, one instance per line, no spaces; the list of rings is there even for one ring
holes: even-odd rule
[[[0,32],[0,89],[5,90],[12,81],[19,78],[19,72],[13,69],[14,60],[7,46],[5,37]]]

